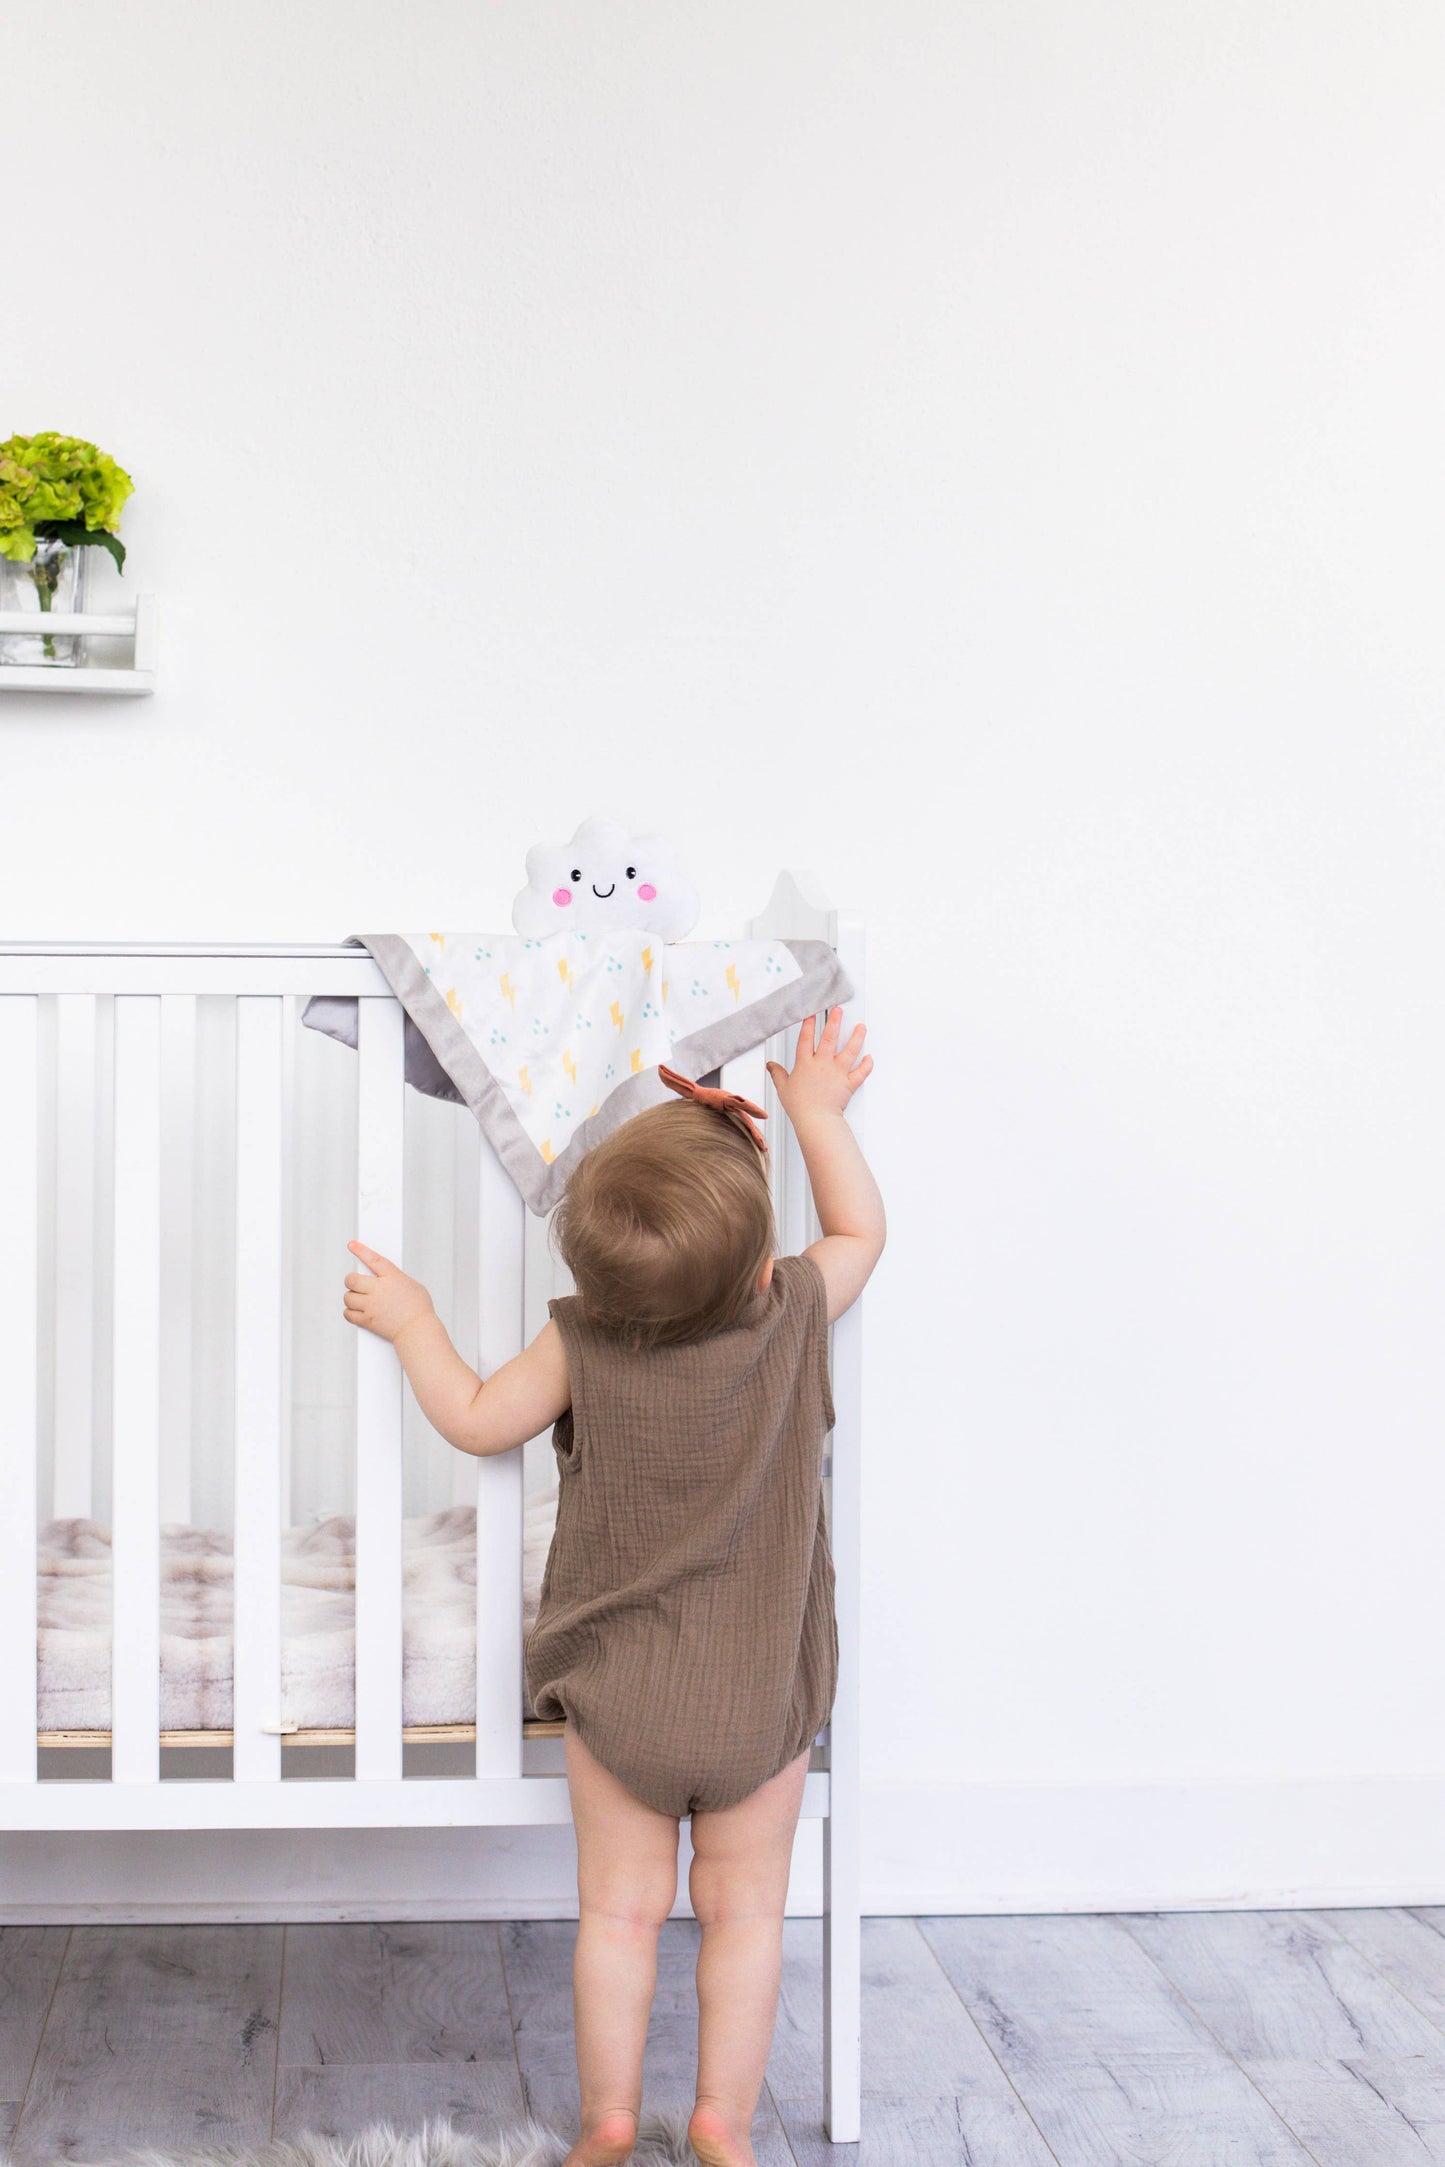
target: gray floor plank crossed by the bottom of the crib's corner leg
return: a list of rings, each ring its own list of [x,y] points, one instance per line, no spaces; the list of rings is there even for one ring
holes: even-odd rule
[[[823,2132],[823,1929],[784,1926],[767,2080],[797,2160],[836,2158]],[[862,1926],[858,2160],[1049,2167],[1051,2154],[914,1920]]]

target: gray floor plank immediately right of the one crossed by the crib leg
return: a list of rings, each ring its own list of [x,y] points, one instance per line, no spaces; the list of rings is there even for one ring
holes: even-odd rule
[[[1062,2167],[1304,2167],[1304,2147],[1120,1920],[919,1926]]]

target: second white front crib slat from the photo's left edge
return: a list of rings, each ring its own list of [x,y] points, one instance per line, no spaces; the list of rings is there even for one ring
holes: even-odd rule
[[[160,1775],[160,1001],[115,1003],[115,1783]]]

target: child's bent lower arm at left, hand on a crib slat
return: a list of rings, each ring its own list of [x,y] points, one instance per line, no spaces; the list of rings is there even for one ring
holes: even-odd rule
[[[457,1452],[511,1452],[568,1411],[568,1357],[552,1322],[483,1385],[446,1337],[422,1283],[362,1242],[347,1248],[368,1268],[347,1279],[347,1322],[392,1341],[416,1404]]]

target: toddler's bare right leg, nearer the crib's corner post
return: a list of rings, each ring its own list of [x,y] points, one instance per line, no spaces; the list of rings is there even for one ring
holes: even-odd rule
[[[721,1814],[693,1814],[689,1892],[698,1955],[698,2104],[687,2128],[706,2167],[754,2167],[752,2115],[778,2017],[782,1907],[808,1755]]]

